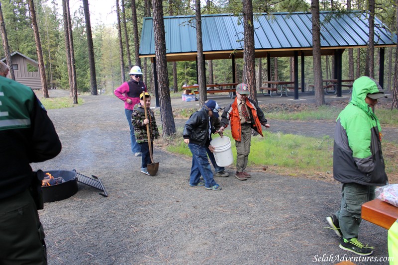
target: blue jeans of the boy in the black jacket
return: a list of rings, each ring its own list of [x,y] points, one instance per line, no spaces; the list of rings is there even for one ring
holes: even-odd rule
[[[211,187],[217,184],[214,181],[213,173],[211,172],[210,164],[208,163],[206,147],[191,143],[188,144],[188,147],[192,152],[190,184],[198,184],[200,176],[204,179],[205,187]]]

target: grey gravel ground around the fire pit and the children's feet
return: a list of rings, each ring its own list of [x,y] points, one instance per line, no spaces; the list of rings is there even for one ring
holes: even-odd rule
[[[62,92],[51,90],[50,96]],[[339,208],[339,183],[253,169],[249,180],[240,181],[229,166],[230,177],[215,179],[222,190],[209,191],[189,186],[191,160],[156,146],[159,172],[146,176],[140,173],[141,159],[130,151],[123,102],[108,95],[81,97],[84,104],[48,111],[63,150],[32,168],[98,176],[108,197],[79,183],[74,196],[45,203],[39,214],[50,265],[335,264],[358,259],[341,250],[335,233],[324,228],[325,217]],[[375,247],[372,257],[378,262],[353,260],[355,264],[386,264],[380,262],[388,257],[385,229],[363,221],[359,240]]]

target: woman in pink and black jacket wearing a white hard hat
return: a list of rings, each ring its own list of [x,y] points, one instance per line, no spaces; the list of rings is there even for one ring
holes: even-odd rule
[[[140,157],[141,150],[140,146],[135,141],[131,115],[133,114],[134,105],[140,102],[140,94],[144,91],[147,92],[147,89],[144,82],[141,81],[141,68],[133,66],[128,74],[131,77],[130,81],[124,82],[120,87],[114,90],[114,94],[124,101],[124,112],[126,113],[128,125],[130,126],[131,151],[134,156]]]

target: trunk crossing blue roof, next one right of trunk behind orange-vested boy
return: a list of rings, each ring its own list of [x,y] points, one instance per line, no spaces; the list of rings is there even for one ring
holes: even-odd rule
[[[322,88],[322,63],[320,59],[319,0],[311,0],[312,14],[312,62],[314,70],[315,104],[325,104]]]

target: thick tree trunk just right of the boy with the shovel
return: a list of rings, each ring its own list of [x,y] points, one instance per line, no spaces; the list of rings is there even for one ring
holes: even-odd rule
[[[162,0],[152,0],[152,6],[160,115],[162,118],[163,136],[170,136],[176,133],[176,125],[174,123],[173,109],[171,106],[169,75],[167,73],[165,25],[163,21]]]

